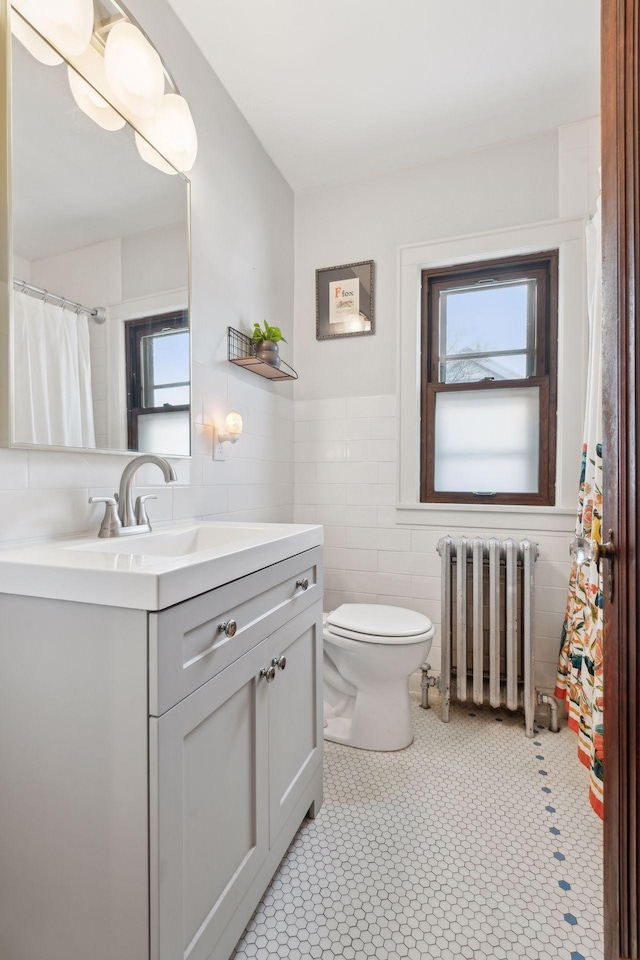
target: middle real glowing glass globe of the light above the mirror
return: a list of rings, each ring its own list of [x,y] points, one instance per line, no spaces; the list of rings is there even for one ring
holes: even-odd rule
[[[162,61],[132,23],[116,23],[104,50],[109,86],[134,117],[151,119],[164,94]]]

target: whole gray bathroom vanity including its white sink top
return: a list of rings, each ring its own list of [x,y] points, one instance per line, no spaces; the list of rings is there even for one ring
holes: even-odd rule
[[[320,527],[0,553],[0,956],[227,960],[322,802]]]

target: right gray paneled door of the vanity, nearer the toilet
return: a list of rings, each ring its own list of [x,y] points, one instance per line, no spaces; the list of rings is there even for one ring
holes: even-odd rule
[[[284,827],[321,761],[322,604],[315,603],[269,638],[270,657],[286,657],[269,684],[269,833]]]

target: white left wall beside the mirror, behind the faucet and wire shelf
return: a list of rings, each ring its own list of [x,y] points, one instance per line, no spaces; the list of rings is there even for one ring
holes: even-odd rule
[[[187,97],[199,137],[190,175],[194,456],[177,462],[178,484],[154,486],[159,499],[149,513],[289,520],[292,390],[229,364],[226,331],[267,317],[291,334],[293,194],[165,0],[128,7]],[[144,279],[123,270],[120,299],[139,295]],[[245,434],[227,462],[213,463],[211,424],[233,408]],[[97,530],[102,511],[87,500],[113,493],[125,463],[118,455],[0,450],[0,543]],[[159,479],[153,469],[140,476],[142,484]]]

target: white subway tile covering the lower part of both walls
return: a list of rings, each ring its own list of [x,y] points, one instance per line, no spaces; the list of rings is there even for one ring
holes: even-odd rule
[[[199,368],[199,369],[198,369]],[[395,517],[395,396],[293,401],[194,364],[193,457],[174,460],[178,482],[165,485],[153,467],[137,475],[137,492],[154,493],[152,521],[215,518],[321,523],[325,528],[325,608],[388,603],[419,610],[437,633],[429,660],[440,665],[442,525],[412,529]],[[215,380],[214,380],[215,377]],[[212,386],[214,383],[214,386]],[[198,399],[199,398],[199,399]],[[238,410],[244,431],[225,460],[212,460],[212,425]],[[90,496],[117,489],[118,455],[0,450],[0,544],[97,530],[102,508]],[[490,536],[487,520],[464,531]],[[536,684],[554,686],[569,578],[569,534],[531,534],[536,564]]]

